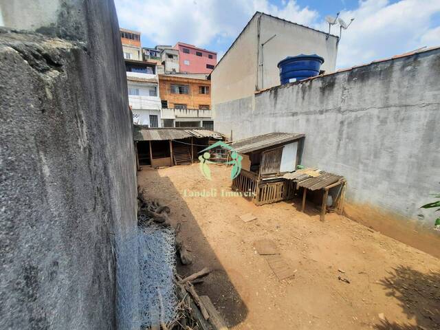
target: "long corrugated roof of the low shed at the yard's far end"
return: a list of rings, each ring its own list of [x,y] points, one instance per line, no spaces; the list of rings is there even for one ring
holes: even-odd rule
[[[176,129],[160,128],[152,129],[144,125],[134,125],[133,137],[135,141],[163,141],[179,140],[186,137],[215,137],[222,138],[220,133],[208,129]]]

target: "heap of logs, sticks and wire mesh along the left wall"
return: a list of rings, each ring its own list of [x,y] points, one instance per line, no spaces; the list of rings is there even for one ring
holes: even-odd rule
[[[190,264],[192,262],[191,256],[188,253],[183,239],[179,236],[181,223],[178,223],[174,229],[168,221],[170,208],[160,205],[157,201],[147,201],[144,198],[143,191],[138,193],[137,199],[137,224],[140,230],[148,235],[151,235],[151,233],[154,234],[157,230],[160,230],[160,228],[166,230],[167,233],[173,232],[175,251],[179,255],[181,263],[184,265]],[[160,247],[159,244],[158,247]],[[166,250],[174,251],[173,248],[169,247]],[[161,257],[159,252],[152,253],[152,248],[149,246],[142,248],[142,251],[146,257],[143,259],[145,266],[148,266],[148,261]],[[154,274],[161,273],[157,270],[157,267],[144,267],[143,272],[145,276],[148,277],[153,276],[151,272],[154,272]],[[208,296],[201,297],[195,291],[194,284],[203,281],[203,278],[208,276],[211,270],[205,267],[186,278],[181,278],[181,276],[175,272],[175,269],[173,272],[174,274],[171,274],[170,278],[170,285],[166,285],[165,289],[163,287],[160,287],[160,289],[157,287],[153,299],[151,299],[151,294],[148,296],[148,293],[152,292],[151,288],[143,290],[142,294],[146,294],[146,298],[149,297],[147,299],[149,303],[145,309],[147,312],[144,314],[142,329],[227,330],[228,328],[225,326],[225,322],[221,316],[219,316],[210,298]],[[170,289],[173,292],[175,291],[175,294],[170,295]],[[179,303],[176,301],[170,304],[170,297],[173,299],[177,297]],[[170,307],[175,307],[175,309],[170,311]]]

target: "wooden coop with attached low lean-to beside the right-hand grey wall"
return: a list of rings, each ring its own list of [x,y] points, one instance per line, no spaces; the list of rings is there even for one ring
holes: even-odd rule
[[[301,162],[304,139],[303,134],[269,133],[230,144],[243,157],[241,172],[232,181],[232,188],[252,195],[256,205],[300,195],[303,211],[309,191],[310,199],[320,203],[321,221],[327,210],[342,213],[347,185],[344,177],[318,168],[296,170]],[[327,205],[329,201],[331,205]]]

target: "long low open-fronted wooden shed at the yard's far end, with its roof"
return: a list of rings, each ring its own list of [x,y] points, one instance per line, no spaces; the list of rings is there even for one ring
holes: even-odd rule
[[[190,164],[199,151],[214,141],[223,140],[223,135],[203,128],[150,128],[134,125],[137,169],[141,166],[158,168],[179,164]]]

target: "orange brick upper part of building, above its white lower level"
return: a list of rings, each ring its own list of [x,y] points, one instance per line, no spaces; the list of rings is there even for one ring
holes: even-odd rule
[[[159,74],[162,108],[211,109],[211,80]]]

